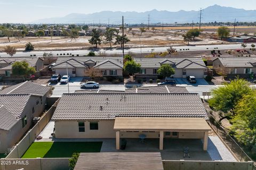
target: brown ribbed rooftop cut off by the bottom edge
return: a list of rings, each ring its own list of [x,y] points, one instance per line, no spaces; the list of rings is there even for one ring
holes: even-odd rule
[[[163,170],[160,152],[80,153],[74,170],[85,169]]]

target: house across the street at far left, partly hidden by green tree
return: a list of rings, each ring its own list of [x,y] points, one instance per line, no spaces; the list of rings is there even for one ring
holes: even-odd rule
[[[6,62],[8,64],[5,64],[4,62]],[[3,67],[0,67],[0,76],[3,77],[10,77],[12,75],[12,64],[16,61],[26,61],[28,62],[30,67],[34,67],[36,69],[36,71],[41,70],[44,67],[44,61],[41,58],[32,58],[32,57],[28,57],[28,58],[0,58],[0,66],[1,63],[4,63]]]

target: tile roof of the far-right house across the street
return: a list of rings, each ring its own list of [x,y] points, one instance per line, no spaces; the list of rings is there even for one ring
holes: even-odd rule
[[[220,60],[224,67],[243,68],[252,68],[252,64],[256,62],[256,58],[253,57],[219,57],[215,60]]]

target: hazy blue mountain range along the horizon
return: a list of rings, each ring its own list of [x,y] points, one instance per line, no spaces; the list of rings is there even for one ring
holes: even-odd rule
[[[148,23],[148,15],[150,23],[191,23],[199,22],[198,11],[146,11],[146,12],[113,12],[102,11],[91,14],[71,13],[65,17],[46,18],[33,21],[31,23],[122,23],[124,16],[125,23],[138,24]],[[202,22],[234,22],[235,18],[238,22],[254,22],[256,21],[256,10],[235,9],[233,7],[225,7],[213,5],[203,10]]]

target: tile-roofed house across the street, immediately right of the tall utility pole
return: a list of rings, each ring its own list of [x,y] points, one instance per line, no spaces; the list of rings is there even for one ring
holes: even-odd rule
[[[203,60],[199,57],[134,58],[134,60],[141,65],[141,71],[140,73],[135,74],[136,77],[157,77],[157,70],[162,64],[171,64],[175,69],[175,74],[172,76],[174,78],[186,78],[187,76],[205,78],[209,71]]]

